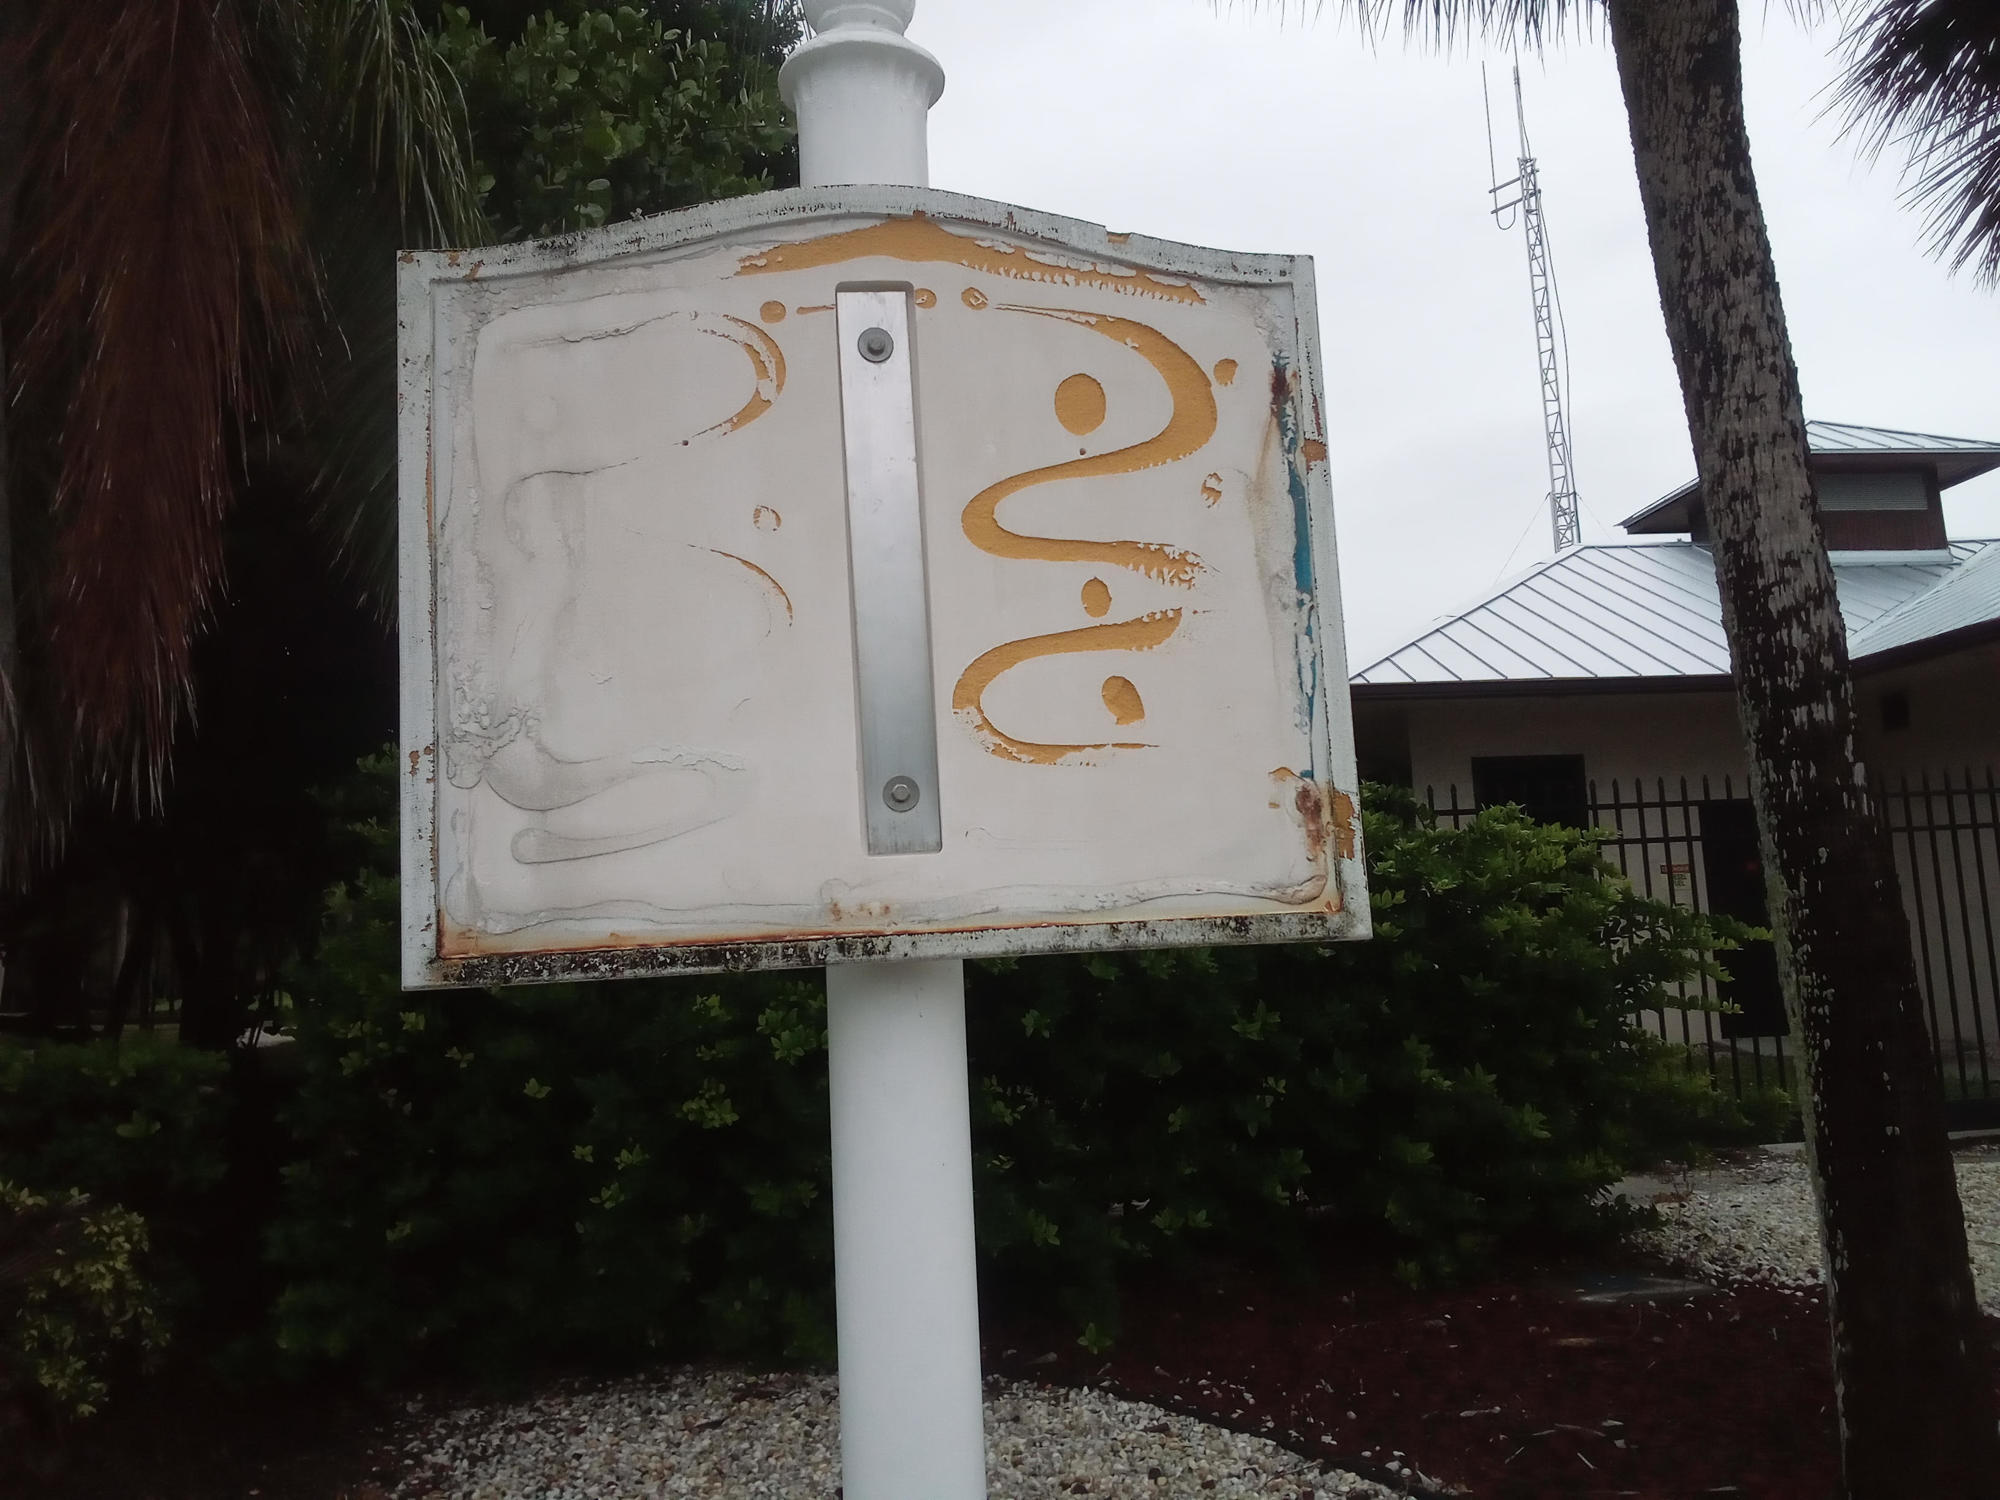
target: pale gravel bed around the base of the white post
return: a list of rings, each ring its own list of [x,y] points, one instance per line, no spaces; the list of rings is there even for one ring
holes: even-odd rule
[[[396,1500],[834,1500],[840,1410],[830,1376],[678,1368],[442,1412],[404,1456]],[[1396,1494],[1158,1406],[1012,1380],[986,1382],[986,1460],[992,1500]]]

